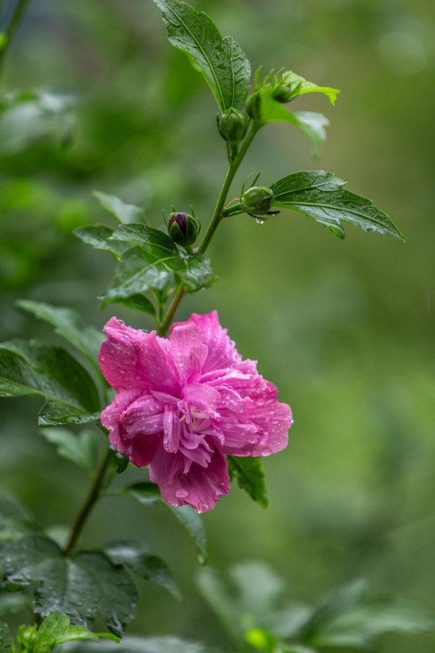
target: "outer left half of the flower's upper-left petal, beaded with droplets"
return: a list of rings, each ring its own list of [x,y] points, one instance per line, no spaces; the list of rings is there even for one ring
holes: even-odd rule
[[[135,345],[141,332],[125,326],[116,317],[112,317],[103,330],[108,339],[101,345],[99,364],[112,388],[118,392],[151,388],[152,382],[140,365]]]

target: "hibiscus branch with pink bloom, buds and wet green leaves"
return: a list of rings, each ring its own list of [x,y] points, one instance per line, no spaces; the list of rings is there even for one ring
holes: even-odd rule
[[[21,308],[51,323],[76,354],[38,341],[14,339],[0,345],[0,395],[42,397],[38,419],[47,439],[92,478],[86,501],[62,541],[43,532],[8,493],[0,495],[3,584],[19,592],[16,602],[23,606],[31,587],[32,611],[38,619],[38,624],[18,632],[23,651],[50,651],[73,639],[119,639],[136,614],[137,576],[179,595],[164,561],[145,554],[140,544],[77,551],[92,508],[130,463],[148,467],[149,476],[144,472],[143,482],[126,484],[119,493],[132,494],[147,505],[166,502],[195,537],[203,561],[205,534],[196,513],[211,510],[227,495],[230,477],[267,506],[261,458],[286,447],[290,406],[278,401],[277,389],[258,373],[256,362],[238,354],[216,311],[173,323],[186,293],[216,281],[208,250],[221,222],[245,213],[264,223],[281,219],[275,216],[284,209],[307,215],[340,238],[345,236],[343,223],[403,238],[384,212],[345,190],[343,180],[325,171],[291,173],[269,186],[258,186],[256,177],[228,203],[236,172],[268,123],[293,125],[319,153],[328,124],[325,116],[293,112],[285,105],[306,93],[323,93],[334,105],[339,91],[316,86],[292,71],[271,71],[263,79],[257,71],[249,93],[249,60],[231,37],[223,38],[209,16],[186,3],[155,2],[169,40],[206,77],[218,103],[227,175],[200,239],[201,225],[192,207],[190,213],[173,207],[167,228],[163,223],[153,227],[141,208],[105,193],[96,196],[116,228],[94,224],[75,231],[84,243],[108,252],[117,262],[102,305],[145,312],[154,330],[136,330],[112,317],[103,329],[103,341],[101,332],[86,326],[70,308],[21,301]],[[16,5],[14,30],[25,4],[19,0]],[[64,428],[81,424],[95,428],[79,434]],[[51,430],[53,426],[62,429]],[[105,446],[99,461],[97,434]],[[112,634],[92,632],[97,615]],[[251,630],[251,645],[272,653],[282,650],[273,635],[261,639],[257,633],[256,638]],[[307,638],[300,641],[314,645]],[[17,650],[7,626],[0,624],[0,653],[10,653],[12,646]],[[83,646],[80,650],[86,650]],[[145,643],[134,646],[148,650]]]

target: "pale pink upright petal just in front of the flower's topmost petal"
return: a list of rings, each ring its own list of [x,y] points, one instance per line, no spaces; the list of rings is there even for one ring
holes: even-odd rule
[[[198,328],[193,323],[173,327],[169,343],[180,382],[186,384],[196,381],[208,355],[208,348],[203,345]]]

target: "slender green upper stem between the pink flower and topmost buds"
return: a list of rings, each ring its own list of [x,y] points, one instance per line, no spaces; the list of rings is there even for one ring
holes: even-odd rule
[[[245,158],[245,154],[247,153],[249,147],[251,146],[253,138],[256,136],[256,133],[258,132],[259,128],[260,128],[259,125],[257,125],[256,123],[252,125],[249,134],[245,138],[245,143],[243,143],[243,147],[240,149],[240,152],[238,153],[234,161],[231,161],[229,163],[227,175],[225,177],[225,181],[223,182],[221,194],[219,195],[216,208],[214,209],[213,217],[210,220],[210,224],[208,225],[206,234],[204,234],[204,237],[201,241],[201,245],[199,245],[198,247],[198,251],[200,251],[202,254],[206,254],[208,246],[210,245],[210,241],[212,240],[214,234],[216,233],[216,229],[219,227],[219,224],[221,223],[223,217],[225,217],[223,214],[223,210],[225,208],[225,201],[227,201],[229,189],[231,188],[231,184],[234,181],[236,172],[238,171],[241,162]],[[178,310],[178,307],[181,304],[185,294],[186,291],[184,290],[182,284],[179,284],[177,288],[177,292],[175,293],[174,298],[171,302],[171,306],[169,306],[168,312],[166,313],[166,317],[164,318],[164,321],[160,325],[159,328],[160,336],[166,336],[167,332],[169,331],[169,328],[171,327],[171,324]]]

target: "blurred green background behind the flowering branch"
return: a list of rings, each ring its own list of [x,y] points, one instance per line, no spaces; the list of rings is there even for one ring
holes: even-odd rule
[[[301,214],[259,226],[223,223],[210,248],[221,281],[186,299],[219,310],[239,351],[259,360],[294,412],[288,449],[265,460],[271,508],[236,486],[204,520],[210,563],[267,561],[288,595],[314,602],[337,584],[368,578],[435,606],[435,5],[430,0],[195,0],[251,59],[342,89],[294,108],[330,118],[319,161],[289,125],[260,132],[234,185],[324,169],[390,214],[407,241],[347,227],[340,241]],[[18,114],[0,123],[1,339],[49,328],[17,298],[71,305],[102,328],[97,309],[114,264],[71,230],[104,221],[92,190],[145,206],[161,224],[171,204],[208,221],[226,169],[206,83],[166,40],[151,0],[34,0],[10,51],[3,90],[75,96],[67,116],[42,126]],[[297,104],[297,106],[296,106]],[[62,124],[61,124],[62,123]],[[38,131],[39,130],[39,131]],[[38,132],[38,138],[34,135]],[[68,141],[68,143],[66,142]],[[1,403],[1,484],[43,526],[70,523],[88,488],[81,471],[38,434],[37,399]],[[133,479],[143,472],[127,472]],[[125,480],[125,479],[122,479]],[[229,648],[195,589],[188,536],[164,506],[107,498],[84,543],[141,537],[175,571],[186,604],[142,585],[129,632],[173,633]],[[434,650],[435,636],[383,640],[383,653]]]

